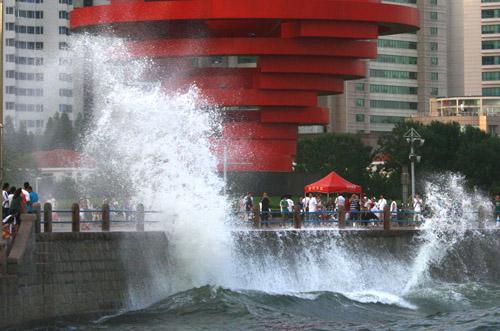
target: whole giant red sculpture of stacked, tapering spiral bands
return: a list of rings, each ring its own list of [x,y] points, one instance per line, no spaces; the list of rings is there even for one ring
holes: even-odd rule
[[[74,10],[71,26],[129,38],[132,56],[154,58],[181,77],[174,86],[194,83],[222,106],[228,170],[287,172],[298,126],[328,124],[317,97],[364,77],[377,37],[416,31],[418,12],[379,0],[111,0]],[[209,56],[257,61],[193,60]]]

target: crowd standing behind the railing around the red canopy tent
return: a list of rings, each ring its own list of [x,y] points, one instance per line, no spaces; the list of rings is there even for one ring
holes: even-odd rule
[[[247,218],[252,218],[255,211],[255,203],[253,194],[247,193],[240,200],[240,211]],[[307,220],[325,220],[338,218],[338,213],[343,208],[346,213],[346,220],[354,221],[370,221],[381,220],[386,206],[389,207],[391,218],[394,221],[401,221],[401,208],[409,211],[407,215],[411,215],[411,219],[415,222],[421,221],[424,202],[420,195],[415,195],[413,201],[409,205],[400,206],[395,199],[386,199],[383,195],[369,197],[366,194],[351,194],[346,195],[339,193],[336,195],[312,194],[301,196],[294,201],[291,195],[284,195],[279,202],[279,211],[273,211],[270,206],[270,199],[267,193],[262,195],[259,202],[259,211],[262,221],[269,220],[270,217],[281,217],[283,219],[290,218],[294,209],[298,207],[300,213]],[[408,216],[406,215],[406,218]],[[402,224],[402,223],[400,223]]]

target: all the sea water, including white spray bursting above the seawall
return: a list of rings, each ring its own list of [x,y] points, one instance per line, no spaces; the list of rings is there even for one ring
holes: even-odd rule
[[[468,211],[491,205],[467,191],[464,178],[427,183],[431,216],[406,242],[348,238],[337,229],[235,229],[213,154],[222,131],[217,109],[196,86],[169,89],[175,76],[145,81],[154,62],[123,61],[119,49],[120,40],[74,38],[73,58],[87,63],[95,86],[82,149],[104,179],[97,189],[163,211],[157,217],[173,273],[158,282],[169,290],[159,286],[155,298],[136,291],[112,316],[15,330],[500,329],[500,239],[497,230],[476,230],[478,215]],[[83,195],[92,196],[95,178]]]

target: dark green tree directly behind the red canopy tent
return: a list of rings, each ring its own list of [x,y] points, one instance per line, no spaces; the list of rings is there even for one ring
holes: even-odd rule
[[[371,147],[351,134],[322,134],[301,139],[297,146],[296,171],[322,175],[335,171],[353,183],[366,182]]]

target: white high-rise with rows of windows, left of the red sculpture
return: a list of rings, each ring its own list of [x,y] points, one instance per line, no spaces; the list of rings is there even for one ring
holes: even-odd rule
[[[4,0],[4,117],[43,132],[47,119],[74,119],[68,48],[72,0]]]

